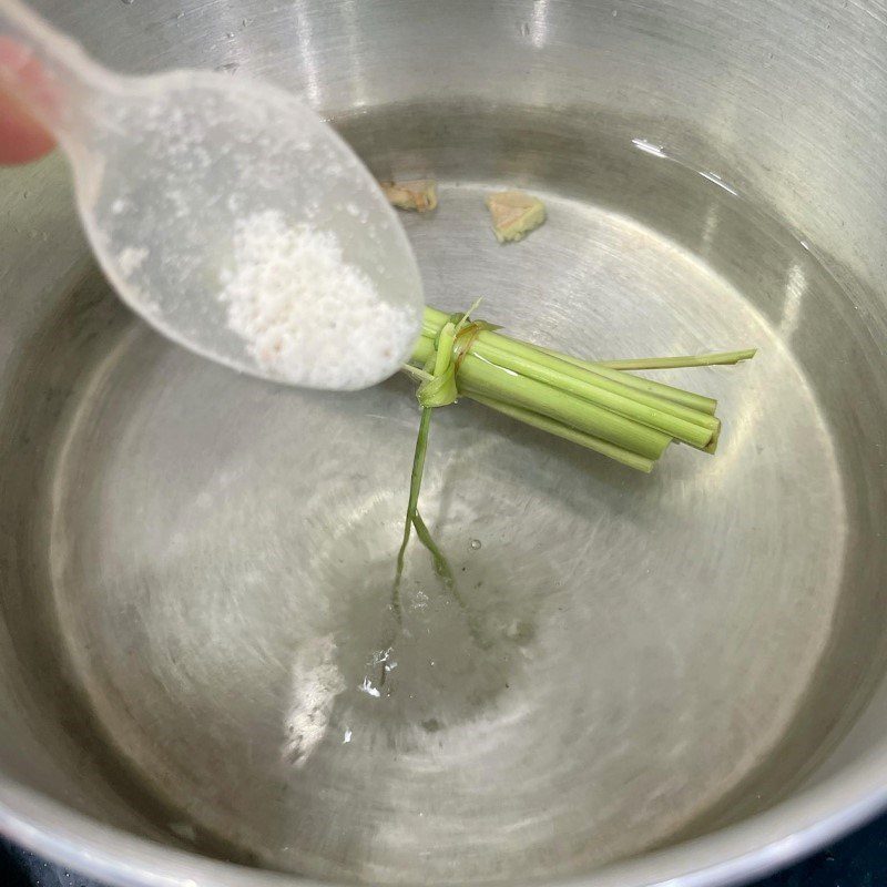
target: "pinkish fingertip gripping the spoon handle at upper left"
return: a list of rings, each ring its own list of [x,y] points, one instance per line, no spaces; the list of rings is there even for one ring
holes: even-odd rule
[[[4,83],[39,82],[40,68],[27,49],[0,37],[0,165],[28,163],[49,153],[52,135],[29,113]]]

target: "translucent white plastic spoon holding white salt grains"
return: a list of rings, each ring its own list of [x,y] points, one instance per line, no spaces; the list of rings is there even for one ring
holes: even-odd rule
[[[0,85],[58,139],[121,298],[170,338],[254,375],[364,388],[422,315],[406,235],[307,105],[208,71],[122,77],[0,0]],[[13,58],[14,57],[14,58]]]

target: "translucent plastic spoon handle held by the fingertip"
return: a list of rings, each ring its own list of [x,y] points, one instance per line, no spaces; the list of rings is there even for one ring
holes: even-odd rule
[[[93,128],[95,99],[114,77],[20,0],[0,0],[0,89],[19,99],[69,154]]]

